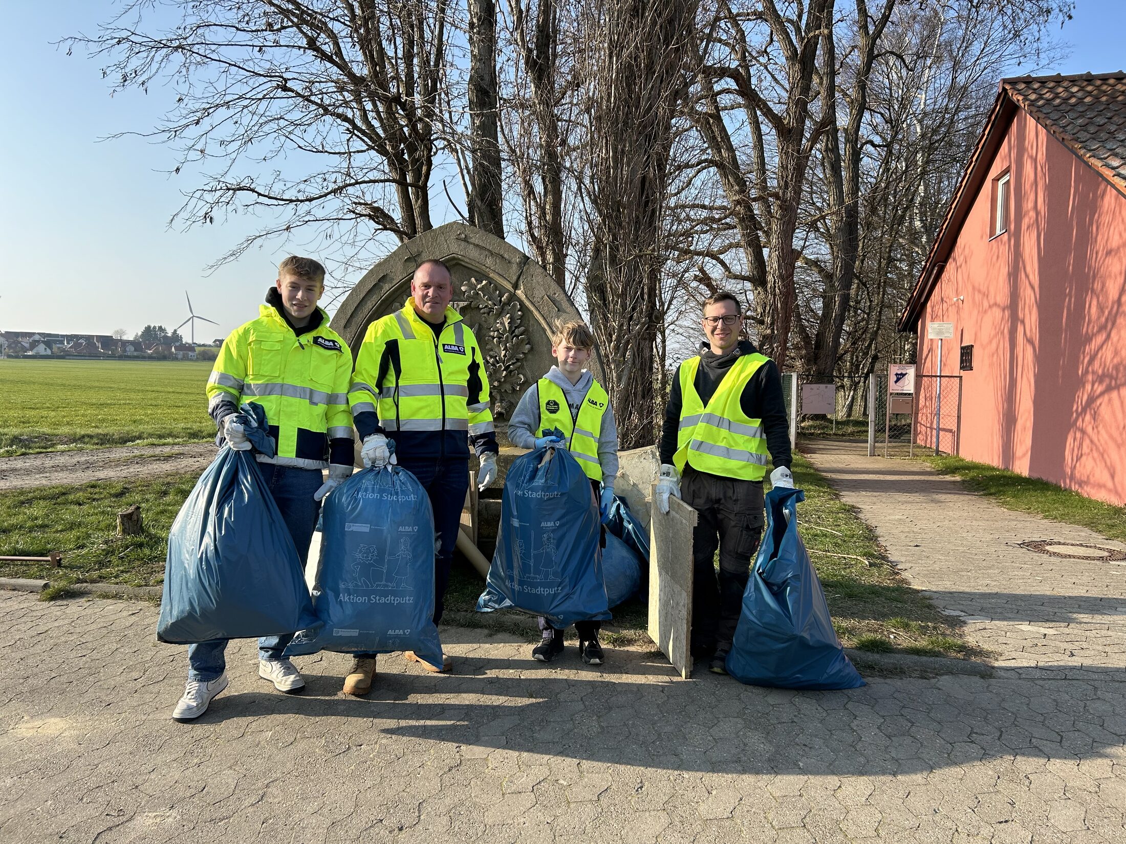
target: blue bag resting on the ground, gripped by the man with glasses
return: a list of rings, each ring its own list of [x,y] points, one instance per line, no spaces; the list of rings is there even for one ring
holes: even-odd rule
[[[766,533],[743,593],[727,673],[751,685],[856,689],[864,680],[837,638],[797,533],[797,503],[804,500],[801,490],[767,493]]]

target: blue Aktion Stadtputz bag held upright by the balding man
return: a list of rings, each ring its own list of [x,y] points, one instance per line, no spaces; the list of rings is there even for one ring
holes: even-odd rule
[[[319,650],[413,650],[441,665],[434,623],[434,511],[406,469],[363,469],[324,500],[321,566],[313,587],[320,629],[297,634],[286,656]]]

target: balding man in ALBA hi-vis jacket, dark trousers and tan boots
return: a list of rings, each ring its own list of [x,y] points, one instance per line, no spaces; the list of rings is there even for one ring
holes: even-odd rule
[[[438,537],[435,623],[441,619],[468,491],[470,447],[481,461],[480,490],[495,479],[500,450],[484,356],[473,331],[449,306],[453,293],[449,268],[436,259],[422,260],[403,307],[373,322],[364,334],[348,390],[364,466],[397,464],[418,478],[429,496]],[[395,569],[391,574],[394,577]],[[436,663],[413,652],[404,656],[428,671],[449,668],[446,656]],[[370,690],[375,661],[372,653],[356,655],[345,679],[346,693]]]

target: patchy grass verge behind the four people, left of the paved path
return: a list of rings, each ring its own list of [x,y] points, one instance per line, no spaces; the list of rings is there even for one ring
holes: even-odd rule
[[[805,490],[798,527],[829,601],[842,643],[875,653],[973,656],[957,622],[912,589],[887,562],[872,529],[842,502],[828,481],[795,457],[796,484]],[[142,482],[51,486],[0,499],[0,554],[64,554],[61,569],[46,565],[0,564],[8,577],[50,580],[52,595],[73,583],[126,586],[162,582],[168,530],[196,476],[170,475]],[[140,504],[144,532],[119,539],[117,513]],[[535,636],[527,618],[515,613],[474,613],[481,577],[455,563],[446,608],[458,623]],[[605,639],[615,645],[649,645],[647,598],[615,608]]]

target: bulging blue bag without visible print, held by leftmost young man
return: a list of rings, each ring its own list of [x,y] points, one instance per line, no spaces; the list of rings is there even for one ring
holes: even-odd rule
[[[261,406],[243,405],[241,416],[254,450],[272,456]],[[315,625],[297,549],[254,451],[224,446],[168,535],[157,638],[189,645]]]

